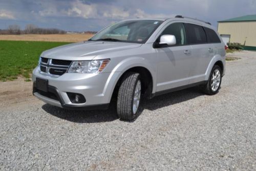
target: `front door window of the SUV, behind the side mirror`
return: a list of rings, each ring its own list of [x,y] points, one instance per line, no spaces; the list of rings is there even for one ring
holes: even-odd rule
[[[182,23],[174,23],[165,28],[161,35],[170,34],[176,38],[176,45],[186,45],[185,29]]]

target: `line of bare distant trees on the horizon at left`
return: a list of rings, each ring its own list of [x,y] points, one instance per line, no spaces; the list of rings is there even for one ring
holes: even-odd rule
[[[29,24],[25,30],[20,29],[18,25],[9,25],[7,29],[1,30],[0,34],[65,34],[66,31],[54,28],[39,28]]]

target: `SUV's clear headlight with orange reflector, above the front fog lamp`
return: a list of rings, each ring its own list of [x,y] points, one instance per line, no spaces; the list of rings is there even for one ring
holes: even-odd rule
[[[110,59],[73,61],[68,73],[100,73],[109,62]]]

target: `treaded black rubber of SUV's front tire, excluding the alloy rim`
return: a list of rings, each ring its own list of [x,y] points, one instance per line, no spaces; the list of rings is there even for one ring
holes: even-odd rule
[[[133,102],[135,88],[139,80],[140,74],[136,72],[126,73],[121,80],[121,86],[117,95],[117,115],[121,119],[133,120],[138,114],[139,110],[135,114],[133,113]],[[141,97],[140,95],[140,102]]]

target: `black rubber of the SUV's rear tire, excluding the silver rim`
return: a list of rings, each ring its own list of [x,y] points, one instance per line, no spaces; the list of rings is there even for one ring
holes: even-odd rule
[[[220,71],[220,84],[219,84],[219,87],[218,87],[218,89],[217,90],[212,90],[211,89],[211,78],[212,78],[212,75],[214,74],[214,72],[216,71],[216,70],[219,70]],[[217,65],[215,65],[214,67],[212,67],[212,70],[211,70],[211,72],[210,72],[210,76],[209,76],[209,79],[208,79],[208,81],[207,81],[207,83],[206,84],[204,84],[204,85],[202,85],[201,86],[201,89],[202,89],[202,91],[205,93],[205,94],[208,94],[208,95],[215,95],[215,94],[217,94],[218,92],[219,92],[219,90],[220,90],[220,88],[221,88],[221,81],[222,81],[222,69],[219,67],[219,66],[217,66]]]

